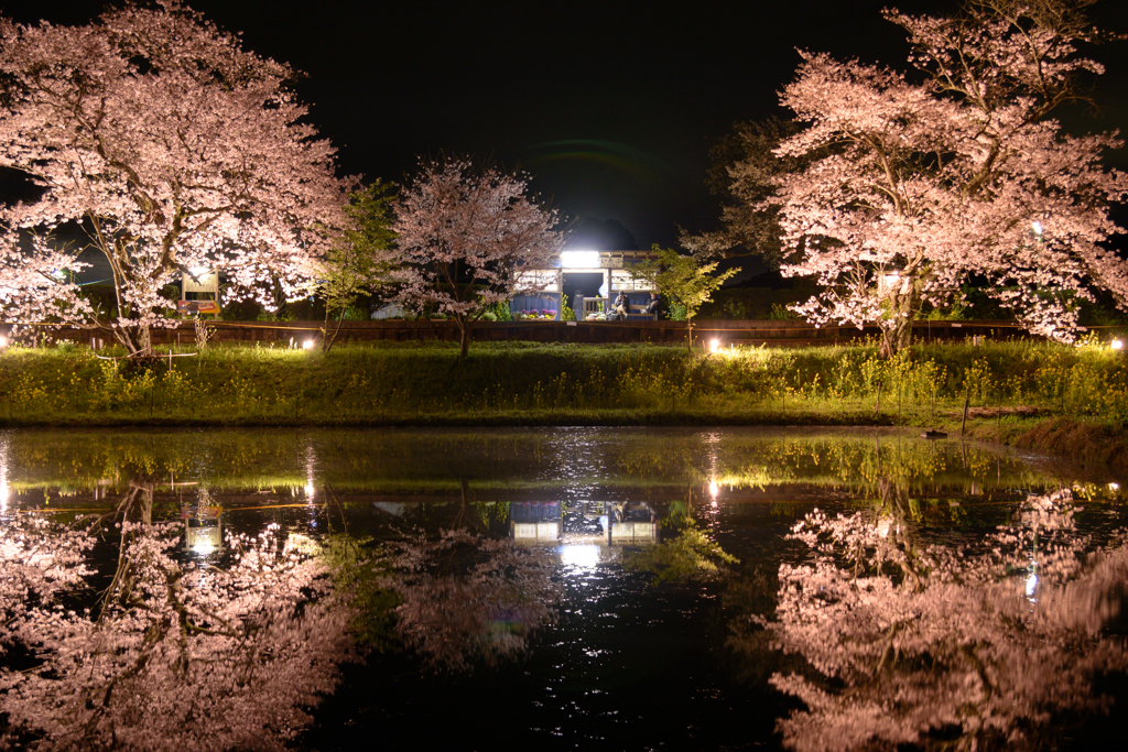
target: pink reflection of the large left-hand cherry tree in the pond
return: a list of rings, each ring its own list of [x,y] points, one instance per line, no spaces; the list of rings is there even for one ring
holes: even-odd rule
[[[230,566],[174,558],[133,483],[83,530],[29,516],[0,528],[0,744],[50,749],[282,749],[336,683],[349,612],[320,565],[276,525],[229,536]],[[115,530],[108,587],[90,598],[95,534]]]

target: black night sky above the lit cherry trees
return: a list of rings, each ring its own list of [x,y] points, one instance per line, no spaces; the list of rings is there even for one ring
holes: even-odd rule
[[[5,2],[18,21],[80,24],[105,2]],[[473,153],[534,176],[570,218],[615,219],[640,247],[677,225],[715,225],[708,148],[733,122],[777,113],[795,47],[904,68],[907,46],[879,11],[943,14],[950,0],[685,3],[376,3],[194,0],[255,52],[305,71],[312,122],[343,174],[403,180],[420,156]],[[667,6],[676,8],[676,6]],[[1102,27],[1128,32],[1128,2]],[[1093,55],[1108,73],[1098,120],[1128,131],[1128,42]],[[1128,150],[1113,162],[1128,169]]]

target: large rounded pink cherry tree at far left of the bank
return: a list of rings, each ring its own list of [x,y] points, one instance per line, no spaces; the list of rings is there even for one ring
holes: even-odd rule
[[[345,202],[334,150],[288,88],[290,67],[167,0],[87,26],[0,19],[0,165],[41,189],[0,212],[8,246],[21,230],[80,227],[109,265],[113,331],[131,353],[168,324],[161,289],[182,273],[217,269],[229,299],[266,306],[275,287],[306,290]],[[0,264],[0,290],[24,284],[12,266]],[[24,297],[30,307],[2,300],[5,313],[54,307],[92,324],[76,292],[41,284]]]

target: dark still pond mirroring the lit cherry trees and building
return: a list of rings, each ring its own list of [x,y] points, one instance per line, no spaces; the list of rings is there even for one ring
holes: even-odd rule
[[[1122,479],[890,431],[0,434],[0,747],[1089,749]]]

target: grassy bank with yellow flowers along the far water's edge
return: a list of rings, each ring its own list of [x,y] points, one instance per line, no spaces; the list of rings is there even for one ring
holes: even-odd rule
[[[186,348],[184,352],[188,352]],[[0,356],[0,425],[914,425],[1125,465],[1128,364],[1024,340],[738,348],[404,343],[209,347],[148,366],[78,346]]]

